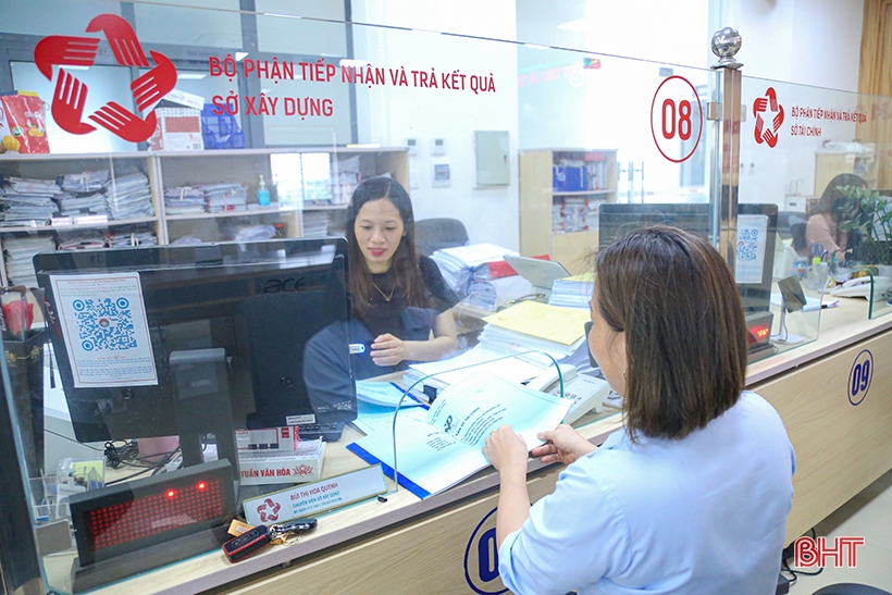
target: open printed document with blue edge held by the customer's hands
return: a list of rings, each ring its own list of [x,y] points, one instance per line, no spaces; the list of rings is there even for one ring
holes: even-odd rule
[[[491,432],[507,423],[529,450],[542,444],[536,434],[557,427],[571,405],[480,371],[444,391],[426,418],[397,422],[399,483],[422,499],[443,492],[490,464],[482,448]],[[383,463],[393,476],[392,432],[375,432],[347,448],[370,463]]]

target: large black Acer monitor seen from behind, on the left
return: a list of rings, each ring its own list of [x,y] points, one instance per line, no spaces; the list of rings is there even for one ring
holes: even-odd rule
[[[334,383],[338,393],[322,396],[308,389],[303,377],[310,338],[326,329],[347,326],[346,263],[343,238],[35,256],[38,284],[51,309],[52,345],[76,438],[178,435],[184,463],[194,464],[201,462],[200,450],[195,451],[200,448],[198,437],[214,433],[218,448],[227,450],[227,458],[232,454],[236,466],[234,446],[228,444],[234,427],[354,419],[351,377]],[[114,305],[115,295],[104,296],[103,287],[112,287],[115,275],[138,278],[145,319],[133,303],[121,302],[131,314],[121,318],[120,312],[104,312],[99,300],[85,306],[75,299],[82,286],[76,282],[83,282],[88,288],[94,284],[94,296],[111,298]],[[62,295],[57,295],[60,287]],[[75,307],[86,315],[73,320]],[[121,324],[129,325],[129,332],[115,329]],[[143,351],[150,352],[150,361],[131,362],[138,373],[114,359],[126,351],[114,342],[127,334],[131,346],[139,347],[134,326],[146,329],[150,343]],[[330,342],[343,343],[332,349],[346,359],[347,333],[330,335]],[[86,344],[88,355],[83,349]],[[138,349],[134,355],[140,355]],[[90,367],[97,362],[108,362],[112,374],[120,369],[123,377],[111,379],[101,368],[95,374]],[[345,373],[349,376],[349,369]],[[91,374],[99,380],[91,380]],[[137,376],[140,380],[132,380]]]

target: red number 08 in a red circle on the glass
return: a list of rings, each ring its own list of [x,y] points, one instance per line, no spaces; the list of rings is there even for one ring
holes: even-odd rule
[[[651,104],[651,133],[660,154],[673,163],[691,159],[703,134],[703,106],[697,90],[683,76],[669,76],[657,87]]]

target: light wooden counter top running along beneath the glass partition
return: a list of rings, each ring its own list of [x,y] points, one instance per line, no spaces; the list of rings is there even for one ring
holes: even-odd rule
[[[820,314],[821,332],[816,340],[795,346],[769,359],[751,364],[747,386],[757,385],[827,354],[892,329],[892,315],[875,320],[867,319],[867,301],[864,299],[843,299],[839,307],[825,309]],[[590,414],[581,421],[586,420],[587,423],[580,427],[580,432],[595,444],[604,442],[607,435],[622,423],[621,416],[610,410],[598,416]],[[359,433],[348,427],[338,443],[329,445],[324,469],[326,475],[364,467],[358,457],[345,448],[347,444],[359,437]],[[544,468],[545,466],[537,460],[531,460],[528,471],[535,473]],[[392,482],[388,480],[388,486],[391,485]],[[126,592],[133,595],[200,593],[255,573],[273,571],[276,567],[285,568],[299,558],[324,550],[334,550],[336,546],[356,538],[381,534],[397,523],[419,520],[437,509],[457,505],[461,500],[487,491],[494,491],[497,485],[497,473],[488,469],[426,500],[419,500],[408,491],[400,488],[397,494],[387,495],[386,501],[371,500],[332,513],[320,515],[319,528],[313,533],[301,536],[292,545],[270,546],[262,554],[241,562],[233,565],[226,561],[220,550],[209,551],[146,572],[122,583],[107,585],[91,593],[113,595],[121,593],[122,588],[126,588]],[[44,558],[50,586],[60,592],[71,593],[70,570],[73,558],[72,553]]]

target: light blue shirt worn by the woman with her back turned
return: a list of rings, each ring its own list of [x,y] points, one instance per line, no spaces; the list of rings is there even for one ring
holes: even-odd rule
[[[518,595],[773,594],[794,470],[755,393],[681,441],[615,432],[508,535],[501,581]]]

